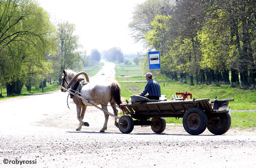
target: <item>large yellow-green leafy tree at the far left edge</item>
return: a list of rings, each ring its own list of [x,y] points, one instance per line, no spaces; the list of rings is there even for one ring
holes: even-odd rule
[[[7,95],[20,94],[26,63],[39,66],[51,48],[53,25],[48,13],[32,0],[0,1],[0,25],[1,82],[6,83]]]

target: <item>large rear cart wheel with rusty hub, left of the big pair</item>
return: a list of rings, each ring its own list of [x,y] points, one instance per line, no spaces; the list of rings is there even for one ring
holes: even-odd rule
[[[207,122],[206,114],[198,108],[186,111],[182,121],[184,129],[191,135],[202,134],[207,127]]]

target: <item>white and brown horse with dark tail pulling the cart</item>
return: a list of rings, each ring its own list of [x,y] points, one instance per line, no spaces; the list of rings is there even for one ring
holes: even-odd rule
[[[77,72],[74,72],[73,70],[63,70],[63,76],[62,76],[62,83],[61,86],[66,88],[68,83],[71,81],[71,79],[77,74]],[[89,78],[86,73],[84,73],[86,76],[86,80],[89,81]],[[82,81],[82,76],[78,76],[75,81]],[[76,82],[72,82],[69,88],[73,88]],[[108,82],[108,81],[102,81],[98,84],[92,84],[90,82],[86,82],[87,84],[84,85],[80,91],[76,89],[76,91],[80,92],[82,95],[84,95],[88,100],[95,104],[95,105],[101,105],[101,108],[105,111],[108,111],[107,105],[108,103],[111,104],[111,107],[113,108],[114,115],[117,116],[118,110],[117,105],[122,104],[121,97],[120,97],[120,86],[117,82]],[[60,88],[62,92],[65,92],[63,88]],[[78,88],[79,89],[79,88]],[[87,106],[93,106],[92,104],[87,103],[85,100],[80,99],[76,96],[73,96],[73,102],[76,104],[76,112],[77,112],[77,119],[80,122],[78,128],[76,128],[76,131],[81,131],[82,125],[83,126],[89,126],[87,122],[83,122],[84,114],[86,111]],[[122,108],[119,107],[121,111],[123,112]],[[100,132],[107,131],[107,124],[108,124],[108,117],[109,114],[105,114],[105,122],[103,127],[101,128]],[[115,126],[118,127],[118,123],[115,120]]]

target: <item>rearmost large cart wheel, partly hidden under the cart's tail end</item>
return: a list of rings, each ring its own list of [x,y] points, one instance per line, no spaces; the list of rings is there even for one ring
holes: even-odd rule
[[[220,113],[216,117],[220,117],[220,119],[215,122],[208,122],[207,129],[215,135],[225,134],[229,130],[231,117],[228,113]]]

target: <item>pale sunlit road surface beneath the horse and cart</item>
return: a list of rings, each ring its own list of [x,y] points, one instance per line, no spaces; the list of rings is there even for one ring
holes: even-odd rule
[[[113,64],[102,70],[90,82],[113,79]],[[122,134],[109,117],[100,133],[104,114],[88,107],[83,121],[90,126],[75,131],[75,105],[69,99],[68,109],[66,101],[61,91],[0,101],[0,167],[256,167],[254,129],[192,136],[167,124],[162,134],[140,126]]]

